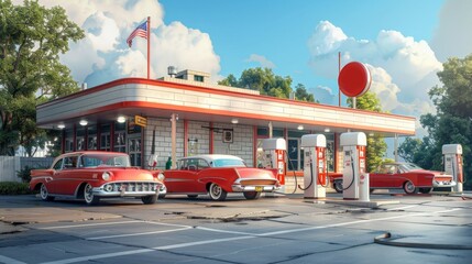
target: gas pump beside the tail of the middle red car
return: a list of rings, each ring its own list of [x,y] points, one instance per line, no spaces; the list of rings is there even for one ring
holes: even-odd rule
[[[266,168],[277,169],[277,179],[281,186],[281,191],[285,193],[285,153],[287,144],[284,139],[265,139],[262,140],[262,150]],[[267,194],[266,194],[267,195]]]

